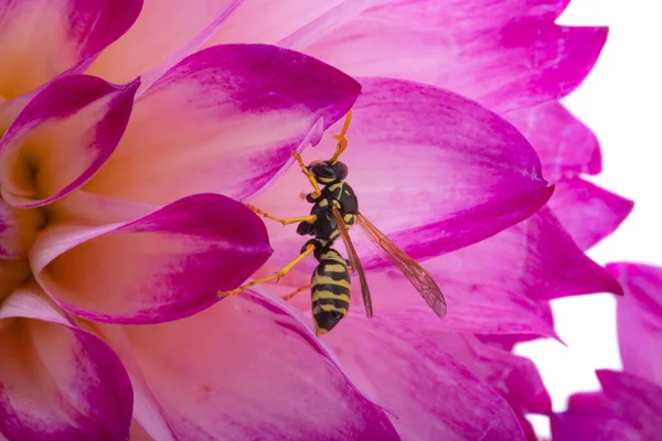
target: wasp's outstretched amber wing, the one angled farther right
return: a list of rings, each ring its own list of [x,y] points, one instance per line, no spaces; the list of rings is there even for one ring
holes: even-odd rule
[[[356,223],[363,228],[367,236],[388,255],[391,260],[399,268],[407,279],[409,279],[409,282],[412,282],[414,288],[416,288],[420,295],[426,300],[433,311],[440,318],[444,318],[447,311],[446,299],[430,275],[388,237],[384,236],[384,234],[371,224],[361,213],[356,216]]]

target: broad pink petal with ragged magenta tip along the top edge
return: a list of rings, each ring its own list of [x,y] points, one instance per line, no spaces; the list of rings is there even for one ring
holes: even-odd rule
[[[354,76],[435,84],[508,111],[569,94],[607,39],[606,28],[554,24],[557,0],[528,3],[389,0],[357,17],[337,8],[281,44]]]

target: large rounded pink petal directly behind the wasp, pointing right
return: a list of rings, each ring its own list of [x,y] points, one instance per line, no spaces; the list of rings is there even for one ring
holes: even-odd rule
[[[526,140],[480,105],[434,86],[362,78],[352,109],[350,146],[341,157],[361,212],[417,259],[438,256],[490,237],[538,209],[552,189]],[[338,133],[339,127],[327,132]],[[329,158],[334,142],[308,159]],[[310,207],[297,195],[310,191],[298,168],[254,204],[281,217]],[[285,260],[300,238],[278,225],[271,234]],[[382,266],[356,237],[367,268]],[[277,259],[278,260],[278,259]],[[279,260],[278,260],[279,261]]]

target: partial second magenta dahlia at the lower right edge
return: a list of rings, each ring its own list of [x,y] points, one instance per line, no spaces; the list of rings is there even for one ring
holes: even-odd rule
[[[617,303],[623,372],[598,370],[601,391],[570,397],[552,418],[554,440],[660,439],[662,428],[662,268],[610,263],[624,295]]]

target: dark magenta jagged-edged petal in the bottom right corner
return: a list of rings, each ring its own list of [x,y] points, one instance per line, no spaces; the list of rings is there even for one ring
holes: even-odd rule
[[[662,388],[634,375],[598,370],[602,394],[570,397],[552,418],[555,441],[648,441],[660,438]]]

